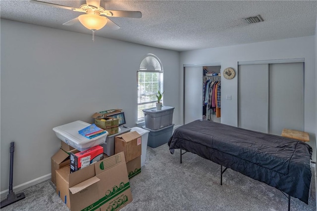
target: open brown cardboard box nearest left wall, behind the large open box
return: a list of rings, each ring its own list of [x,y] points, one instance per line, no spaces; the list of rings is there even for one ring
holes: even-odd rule
[[[69,154],[67,154],[62,149],[59,149],[52,157],[51,157],[51,171],[52,171],[52,182],[56,185],[56,172],[64,166],[70,164]]]

